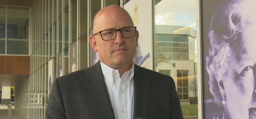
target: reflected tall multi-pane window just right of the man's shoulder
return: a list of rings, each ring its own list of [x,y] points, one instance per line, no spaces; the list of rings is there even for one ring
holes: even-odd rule
[[[188,100],[188,71],[177,70],[177,92],[180,100]]]

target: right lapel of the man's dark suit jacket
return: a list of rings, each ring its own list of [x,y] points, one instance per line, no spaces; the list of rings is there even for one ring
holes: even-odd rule
[[[146,118],[150,98],[151,78],[137,65],[134,67],[134,113],[133,118]]]

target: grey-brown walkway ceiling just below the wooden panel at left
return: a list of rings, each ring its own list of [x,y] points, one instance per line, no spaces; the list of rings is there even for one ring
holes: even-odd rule
[[[8,75],[0,74],[0,87],[16,86],[28,75]]]

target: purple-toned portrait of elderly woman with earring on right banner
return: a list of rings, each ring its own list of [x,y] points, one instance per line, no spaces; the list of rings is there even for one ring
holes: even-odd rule
[[[256,0],[223,0],[208,32],[206,119],[256,119]],[[204,82],[207,83],[207,82]],[[210,106],[209,106],[210,107]]]

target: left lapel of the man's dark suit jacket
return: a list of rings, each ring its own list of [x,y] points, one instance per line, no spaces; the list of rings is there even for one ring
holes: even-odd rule
[[[114,119],[114,111],[110,102],[104,76],[98,61],[86,74],[85,84],[95,102],[95,105],[104,119]]]

